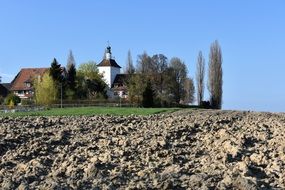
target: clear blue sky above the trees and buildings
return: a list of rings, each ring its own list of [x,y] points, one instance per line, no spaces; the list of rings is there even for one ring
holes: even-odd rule
[[[181,58],[195,77],[198,51],[223,52],[223,109],[285,111],[285,1],[109,0],[0,2],[0,76],[21,68],[101,61],[107,41],[125,66],[146,51]],[[205,89],[206,90],[206,89]],[[207,90],[206,90],[207,91]],[[206,94],[205,99],[208,98]]]

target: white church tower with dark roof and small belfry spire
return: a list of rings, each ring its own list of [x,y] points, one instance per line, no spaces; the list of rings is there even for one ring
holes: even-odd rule
[[[104,80],[109,88],[112,88],[115,77],[120,74],[121,67],[114,59],[112,59],[110,46],[106,48],[104,59],[97,66],[99,73],[103,74]]]

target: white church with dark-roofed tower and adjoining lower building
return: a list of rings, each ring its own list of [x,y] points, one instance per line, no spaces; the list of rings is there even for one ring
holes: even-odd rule
[[[103,79],[109,87],[107,95],[110,98],[127,98],[126,81],[128,75],[121,74],[121,66],[112,58],[110,46],[106,48],[104,59],[97,67],[99,73],[103,75]]]

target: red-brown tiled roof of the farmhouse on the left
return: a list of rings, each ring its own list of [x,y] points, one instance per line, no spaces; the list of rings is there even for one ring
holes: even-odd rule
[[[49,68],[25,68],[17,74],[12,81],[11,91],[15,90],[31,90],[31,86],[27,86],[25,83],[31,83],[35,77],[43,76]]]

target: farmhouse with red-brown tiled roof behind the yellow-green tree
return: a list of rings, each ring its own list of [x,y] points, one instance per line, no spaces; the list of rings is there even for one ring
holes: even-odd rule
[[[42,77],[49,68],[24,68],[16,75],[11,83],[10,91],[21,99],[29,99],[34,96],[33,81]]]

